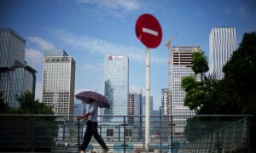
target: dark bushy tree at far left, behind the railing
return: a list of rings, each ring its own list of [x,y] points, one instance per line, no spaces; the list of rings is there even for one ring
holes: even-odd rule
[[[6,140],[0,144],[0,150],[4,152],[50,152],[55,145],[58,130],[55,116],[34,115],[53,115],[53,107],[40,103],[38,99],[34,100],[34,95],[30,92],[17,95],[16,99],[20,102],[20,108],[9,108],[8,113],[28,115],[0,116],[0,130],[2,131],[0,138]]]

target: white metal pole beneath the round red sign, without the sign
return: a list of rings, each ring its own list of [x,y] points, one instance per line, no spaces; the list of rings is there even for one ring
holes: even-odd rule
[[[145,102],[145,147],[149,150],[150,132],[150,49],[146,49],[146,102]]]

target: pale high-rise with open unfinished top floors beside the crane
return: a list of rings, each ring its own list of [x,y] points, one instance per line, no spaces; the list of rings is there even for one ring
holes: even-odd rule
[[[172,115],[173,142],[184,140],[183,127],[188,116],[195,115],[188,106],[184,106],[185,91],[181,88],[181,79],[186,76],[195,76],[192,70],[192,54],[200,52],[200,47],[172,47]],[[197,76],[199,79],[199,76]]]

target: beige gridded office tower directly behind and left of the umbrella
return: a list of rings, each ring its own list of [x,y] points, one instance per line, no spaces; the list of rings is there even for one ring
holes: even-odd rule
[[[43,103],[56,115],[73,115],[75,61],[64,50],[45,50]]]

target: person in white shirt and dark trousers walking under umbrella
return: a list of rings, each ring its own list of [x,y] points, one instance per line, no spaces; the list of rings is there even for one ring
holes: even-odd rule
[[[84,153],[86,150],[88,144],[90,143],[90,139],[92,135],[96,139],[96,141],[101,144],[102,148],[104,149],[104,153],[107,153],[109,148],[103,141],[101,135],[98,133],[97,127],[98,127],[98,122],[97,122],[97,117],[98,117],[98,105],[94,103],[96,100],[95,99],[88,99],[90,103],[90,108],[89,111],[82,115],[82,116],[77,116],[77,119],[80,120],[82,118],[87,119],[87,127],[86,131],[84,133],[84,141],[79,147],[79,153]]]

